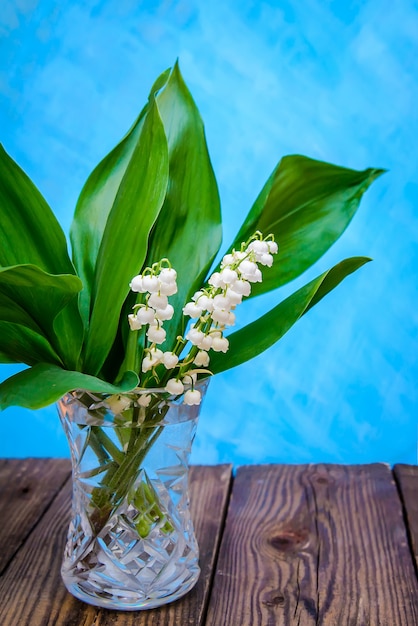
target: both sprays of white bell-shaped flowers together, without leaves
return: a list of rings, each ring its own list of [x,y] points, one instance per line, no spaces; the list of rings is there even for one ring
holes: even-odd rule
[[[136,293],[145,294],[143,302],[134,306],[135,313],[128,316],[131,330],[140,330],[147,326],[146,337],[149,345],[145,348],[142,359],[142,373],[152,372],[157,383],[156,367],[163,365],[166,370],[177,369],[168,378],[165,375],[165,390],[171,395],[184,394],[185,404],[200,404],[201,394],[194,388],[199,372],[210,373],[209,350],[227,352],[229,342],[223,333],[225,328],[235,323],[234,310],[242,298],[251,293],[251,283],[261,282],[262,274],[258,265],[271,267],[277,244],[269,235],[263,239],[257,232],[242,244],[241,250],[233,250],[224,256],[220,271],[209,278],[208,286],[197,291],[192,300],[183,307],[183,314],[196,320],[190,326],[185,337],[178,337],[173,351],[163,352],[157,346],[164,343],[166,332],[163,322],[173,317],[174,309],[168,303],[168,296],[177,293],[176,271],[167,259],[146,268],[143,274],[135,276],[130,287]],[[166,266],[166,264],[168,266]],[[187,342],[191,348],[181,361],[179,356]],[[163,376],[164,378],[164,376]],[[164,384],[164,383],[163,383]],[[185,390],[186,387],[190,387]],[[144,396],[143,406],[149,402]]]

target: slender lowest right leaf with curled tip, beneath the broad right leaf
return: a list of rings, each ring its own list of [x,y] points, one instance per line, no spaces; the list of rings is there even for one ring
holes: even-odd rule
[[[252,324],[229,335],[229,350],[226,354],[213,353],[210,369],[214,374],[245,363],[270,348],[309,309],[332,291],[346,276],[355,272],[371,259],[352,257],[335,265],[291,296],[280,302],[271,311]]]

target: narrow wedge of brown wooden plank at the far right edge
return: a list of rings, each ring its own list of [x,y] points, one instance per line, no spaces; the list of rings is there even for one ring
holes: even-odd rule
[[[393,472],[404,505],[411,550],[418,567],[418,466],[399,464],[395,465]]]

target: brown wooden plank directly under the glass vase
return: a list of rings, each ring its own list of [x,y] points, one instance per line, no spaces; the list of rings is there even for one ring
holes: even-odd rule
[[[161,609],[135,612],[97,609],[79,602],[64,588],[60,567],[70,509],[69,485],[66,485],[0,581],[0,624],[200,626],[204,623],[230,480],[230,466],[191,468],[191,512],[200,545],[201,578],[177,602]]]

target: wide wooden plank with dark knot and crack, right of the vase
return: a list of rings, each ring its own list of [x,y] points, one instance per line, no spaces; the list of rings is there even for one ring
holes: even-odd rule
[[[418,583],[389,468],[240,468],[206,624],[418,624]]]

